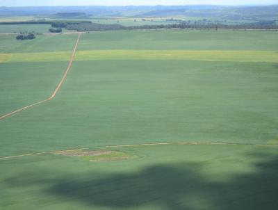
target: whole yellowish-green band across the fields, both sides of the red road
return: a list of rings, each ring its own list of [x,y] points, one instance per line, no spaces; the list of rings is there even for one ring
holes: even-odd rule
[[[70,51],[0,54],[0,63],[70,60]],[[278,63],[277,51],[95,50],[77,51],[75,60],[204,60]]]

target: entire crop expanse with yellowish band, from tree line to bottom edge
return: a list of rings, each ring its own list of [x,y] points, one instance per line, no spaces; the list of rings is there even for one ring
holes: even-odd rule
[[[276,31],[0,36],[0,209],[277,209]]]

